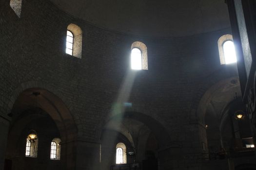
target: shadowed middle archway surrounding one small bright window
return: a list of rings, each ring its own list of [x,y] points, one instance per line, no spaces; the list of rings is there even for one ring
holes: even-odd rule
[[[106,135],[106,131],[116,132],[116,135],[112,135],[111,137],[111,140],[116,138],[113,142],[117,142],[117,140],[120,139],[120,136],[123,136],[123,141],[129,146],[128,152],[134,152],[135,156],[133,158],[129,158],[130,156],[128,156],[127,163],[133,163],[134,161],[148,161],[149,165],[151,165],[150,163],[153,163],[152,166],[157,166],[159,163],[159,167],[161,167],[160,169],[164,169],[168,166],[164,157],[166,154],[172,153],[172,149],[174,148],[170,145],[171,137],[167,129],[165,129],[158,120],[140,112],[124,112],[110,117],[102,127],[101,143],[103,149],[106,148],[106,143],[110,147],[116,146],[115,143],[109,142],[109,139],[106,137],[109,135]],[[150,140],[149,137],[151,137]],[[154,138],[155,140],[153,140]],[[146,155],[149,152],[149,148],[147,147],[149,141],[154,145],[154,147],[151,148],[151,156]],[[122,142],[122,140],[119,142]],[[111,157],[112,154],[113,153],[109,151],[108,157]],[[106,156],[104,158],[106,158]],[[134,160],[132,161],[131,159]],[[109,165],[110,163],[104,168]]]

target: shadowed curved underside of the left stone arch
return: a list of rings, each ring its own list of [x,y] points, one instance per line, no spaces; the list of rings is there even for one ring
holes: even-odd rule
[[[22,83],[12,94],[8,102],[8,116],[12,116],[29,108],[44,110],[56,123],[61,137],[61,161],[67,169],[75,167],[75,144],[77,126],[68,107],[58,96],[51,91],[54,87],[39,83]],[[70,104],[70,103],[69,103]],[[69,105],[71,106],[71,105]],[[18,109],[18,110],[17,110]]]

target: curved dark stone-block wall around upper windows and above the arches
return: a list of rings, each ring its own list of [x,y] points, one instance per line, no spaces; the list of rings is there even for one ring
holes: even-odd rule
[[[70,109],[79,142],[99,142],[120,89],[126,87],[123,82],[133,72],[131,44],[141,41],[148,49],[148,70],[134,71],[134,79],[126,80],[134,81],[126,101],[171,136],[159,154],[162,169],[200,167],[199,100],[218,81],[237,75],[235,65],[219,63],[217,40],[230,34],[229,28],[185,37],[137,36],[98,28],[48,0],[23,0],[20,18],[9,0],[0,8],[0,116],[10,119],[12,96],[21,84],[46,84]],[[65,53],[70,23],[83,32],[81,59]]]

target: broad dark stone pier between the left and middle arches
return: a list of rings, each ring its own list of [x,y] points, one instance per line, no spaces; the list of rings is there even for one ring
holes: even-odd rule
[[[100,169],[100,144],[87,141],[76,142],[76,170]]]

